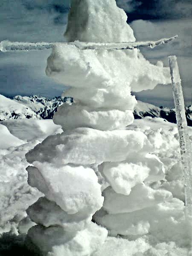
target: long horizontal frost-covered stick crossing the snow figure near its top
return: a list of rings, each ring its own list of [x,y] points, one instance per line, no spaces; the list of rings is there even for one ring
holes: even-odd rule
[[[75,45],[81,50],[85,49],[135,49],[141,47],[150,47],[154,48],[160,44],[166,44],[178,36],[175,35],[172,38],[162,38],[158,41],[145,41],[145,42],[123,42],[123,43],[87,43],[87,42],[63,42],[63,43],[28,43],[28,42],[10,42],[10,41],[1,41],[0,42],[0,51],[1,52],[10,52],[10,51],[29,51],[29,50],[43,50],[50,49],[55,44],[71,44]]]

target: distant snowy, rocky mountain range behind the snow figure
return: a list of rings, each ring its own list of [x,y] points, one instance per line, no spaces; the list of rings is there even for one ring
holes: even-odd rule
[[[69,98],[43,96],[14,96],[13,99],[0,95],[0,120],[8,119],[52,119],[58,106]],[[175,108],[157,107],[155,105],[138,101],[134,109],[134,118],[141,119],[145,116],[161,117],[169,122],[176,123]],[[192,105],[186,107],[186,119],[192,126]]]

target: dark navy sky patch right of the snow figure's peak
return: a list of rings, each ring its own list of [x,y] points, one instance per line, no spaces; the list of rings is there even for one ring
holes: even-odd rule
[[[117,4],[127,12],[128,21],[192,17],[191,0],[117,0]]]

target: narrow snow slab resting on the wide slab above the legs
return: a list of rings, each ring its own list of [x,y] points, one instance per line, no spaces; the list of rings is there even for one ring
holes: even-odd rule
[[[134,121],[132,111],[98,110],[73,103],[61,105],[53,117],[54,123],[65,130],[88,127],[97,130],[116,130],[130,125]]]

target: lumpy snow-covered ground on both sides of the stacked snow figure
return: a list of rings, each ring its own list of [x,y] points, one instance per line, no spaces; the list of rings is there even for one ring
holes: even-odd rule
[[[18,235],[19,229],[27,232],[32,226],[29,221],[20,222],[26,217],[26,209],[42,196],[37,189],[27,184],[28,163],[25,154],[50,134],[61,133],[61,127],[54,125],[52,120],[20,119],[1,122],[1,137],[6,138],[0,143],[0,255],[10,255],[14,248],[23,256],[29,255],[23,247],[23,235]],[[172,192],[175,198],[184,200],[183,174],[180,166],[180,152],[177,127],[161,118],[145,117],[136,119],[128,130],[143,131],[154,145],[151,153],[156,154],[164,163],[166,180],[154,183],[154,188],[162,188]],[[35,133],[34,133],[35,131]],[[192,128],[189,128],[192,140]],[[2,139],[1,139],[2,140]],[[108,236],[105,244],[93,256],[186,256],[187,247],[183,243],[183,231],[180,225],[175,225],[180,233],[180,241],[163,241],[160,236],[143,235],[141,237],[118,238]],[[169,227],[163,227],[163,233]],[[182,237],[183,236],[183,237]],[[126,238],[126,239],[125,239]],[[12,239],[13,247],[10,246]],[[7,242],[7,244],[6,244]],[[4,249],[3,249],[4,248]],[[7,248],[7,249],[6,249]]]

